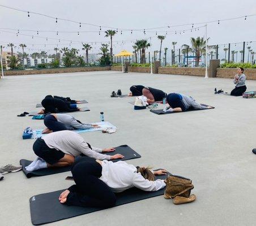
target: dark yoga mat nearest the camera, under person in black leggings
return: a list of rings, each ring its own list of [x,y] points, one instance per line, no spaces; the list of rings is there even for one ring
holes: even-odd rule
[[[156,179],[166,179],[168,175],[156,176]],[[164,194],[165,188],[156,192],[144,192],[138,188],[130,188],[125,192],[116,193],[116,206]],[[59,202],[59,195],[64,190],[39,194],[29,199],[31,221],[33,225],[47,224],[58,220],[73,218],[83,214],[100,211],[104,208],[67,206]],[[153,206],[153,203],[152,203]],[[86,224],[86,223],[84,223]],[[65,225],[65,224],[64,224]]]

